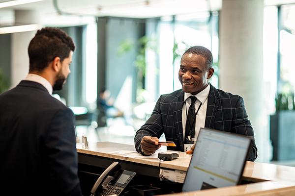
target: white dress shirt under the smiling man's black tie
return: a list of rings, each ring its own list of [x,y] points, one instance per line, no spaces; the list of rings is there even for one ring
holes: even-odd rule
[[[191,105],[191,99],[189,97],[195,96],[197,98],[197,100],[195,102],[195,112],[197,112],[197,110],[202,102],[200,110],[199,110],[198,114],[196,115],[195,137],[194,137],[194,139],[196,140],[198,137],[200,128],[205,127],[209,91],[210,91],[210,85],[208,84],[208,86],[203,91],[198,93],[197,95],[192,95],[190,93],[184,93],[185,103],[182,106],[182,115],[181,115],[182,116],[183,139],[185,136],[186,116],[187,116],[189,106]],[[186,106],[186,109],[185,109],[185,106]]]

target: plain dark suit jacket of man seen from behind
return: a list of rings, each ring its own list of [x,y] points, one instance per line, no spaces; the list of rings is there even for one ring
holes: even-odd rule
[[[0,95],[0,187],[13,195],[80,196],[74,116],[41,84]]]

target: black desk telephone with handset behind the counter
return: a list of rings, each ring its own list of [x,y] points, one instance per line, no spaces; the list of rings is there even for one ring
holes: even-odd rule
[[[119,163],[114,162],[96,180],[90,196],[119,196],[135,174],[136,172],[121,170]]]

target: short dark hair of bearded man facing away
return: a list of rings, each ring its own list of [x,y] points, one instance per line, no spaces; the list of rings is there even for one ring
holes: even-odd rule
[[[75,44],[66,32],[55,27],[42,28],[29,43],[29,71],[42,71],[55,57],[63,61],[74,50]]]

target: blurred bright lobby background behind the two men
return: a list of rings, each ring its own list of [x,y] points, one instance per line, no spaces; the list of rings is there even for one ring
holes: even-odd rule
[[[75,113],[80,140],[133,145],[159,96],[181,88],[183,52],[201,45],[211,84],[244,98],[256,161],[295,166],[295,0],[0,0],[0,93],[26,77],[44,26],[76,44],[53,96]]]

